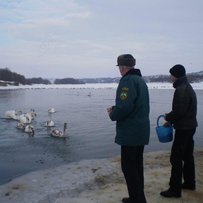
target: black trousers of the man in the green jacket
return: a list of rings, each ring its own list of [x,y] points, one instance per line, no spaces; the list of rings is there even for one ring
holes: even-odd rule
[[[143,152],[144,146],[121,146],[121,169],[132,203],[146,203]]]

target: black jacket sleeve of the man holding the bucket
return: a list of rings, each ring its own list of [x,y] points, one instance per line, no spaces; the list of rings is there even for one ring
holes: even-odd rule
[[[172,111],[166,114],[165,119],[173,123],[184,117],[188,111],[189,102],[190,97],[187,95],[186,89],[176,89],[173,98]]]

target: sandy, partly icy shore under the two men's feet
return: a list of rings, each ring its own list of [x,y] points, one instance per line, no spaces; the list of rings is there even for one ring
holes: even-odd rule
[[[203,200],[203,149],[195,150],[196,191],[180,199],[159,195],[168,188],[169,152],[145,153],[145,193],[148,203],[200,203]],[[127,196],[120,159],[71,163],[21,176],[0,186],[1,203],[119,203]]]

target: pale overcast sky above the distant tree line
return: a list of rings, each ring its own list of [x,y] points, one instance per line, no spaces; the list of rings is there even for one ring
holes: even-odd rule
[[[203,0],[1,0],[0,68],[25,77],[120,76],[132,54],[143,75],[180,63],[203,70]]]

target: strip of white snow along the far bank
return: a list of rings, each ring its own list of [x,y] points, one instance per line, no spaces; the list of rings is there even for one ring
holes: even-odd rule
[[[147,83],[149,89],[173,89],[172,83]],[[203,82],[192,83],[194,89],[203,89]],[[6,89],[101,89],[117,88],[118,83],[88,83],[88,84],[67,84],[67,85],[19,85],[19,86],[0,86],[0,90]]]

